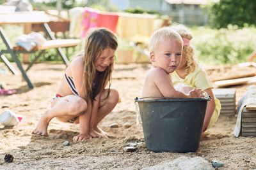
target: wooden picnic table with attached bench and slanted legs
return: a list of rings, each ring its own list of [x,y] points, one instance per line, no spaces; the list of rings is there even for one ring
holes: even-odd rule
[[[3,60],[3,62],[8,67],[8,69],[10,69],[10,71],[13,74],[17,74],[17,71],[15,71],[14,67],[12,67],[12,64],[10,64],[8,59],[6,59],[6,57],[3,55],[3,53],[10,53],[13,60],[19,67],[20,72],[22,73],[22,76],[27,81],[28,87],[31,89],[34,87],[34,85],[29,80],[28,75],[26,74],[26,71],[28,71],[29,68],[33,66],[36,60],[38,60],[38,58],[42,55],[42,53],[45,52],[46,49],[57,48],[58,53],[60,53],[61,59],[68,66],[69,62],[68,62],[67,56],[65,55],[65,53],[61,48],[76,46],[76,45],[79,45],[79,43],[81,43],[81,40],[79,39],[56,39],[49,25],[47,24],[48,22],[49,22],[49,18],[44,13],[44,11],[0,13],[0,36],[3,39],[4,44],[6,45],[6,50],[0,51],[0,58]],[[2,27],[2,25],[4,24],[30,24],[30,25],[42,24],[42,27],[44,27],[45,32],[48,34],[51,40],[47,40],[42,46],[36,46],[31,52],[24,50],[24,48],[21,48],[20,46],[13,47]],[[24,68],[22,67],[22,64],[17,59],[16,54],[17,53],[35,53],[37,51],[40,51],[40,53],[35,57],[35,59],[32,62],[29,63],[29,66],[25,71]]]

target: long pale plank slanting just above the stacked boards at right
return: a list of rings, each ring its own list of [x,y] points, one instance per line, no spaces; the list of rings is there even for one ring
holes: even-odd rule
[[[242,85],[248,83],[248,81],[252,80],[254,76],[246,77],[246,78],[236,78],[231,80],[221,80],[221,81],[215,81],[214,84],[218,87],[227,87],[230,85]]]

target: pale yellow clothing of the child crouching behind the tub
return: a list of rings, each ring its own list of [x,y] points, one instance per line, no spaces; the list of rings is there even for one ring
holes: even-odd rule
[[[174,87],[177,87],[177,85],[181,83],[184,86],[199,88],[202,90],[205,90],[208,88],[213,89],[212,82],[209,76],[207,75],[207,73],[205,73],[203,69],[201,69],[198,66],[195,67],[195,71],[193,71],[192,73],[189,73],[184,79],[180,78],[180,76],[176,73],[176,71],[171,73],[171,76],[172,76],[172,82]],[[212,113],[212,117],[207,126],[207,129],[212,127],[212,125],[214,125],[217,122],[218,117],[220,116],[220,110],[221,110],[220,100],[217,99],[216,97],[214,97],[214,99],[215,99],[216,106],[215,106],[214,112]]]

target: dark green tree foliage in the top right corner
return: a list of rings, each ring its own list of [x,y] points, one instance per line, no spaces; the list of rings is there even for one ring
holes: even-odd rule
[[[212,5],[211,14],[217,28],[228,24],[238,27],[256,25],[256,3],[252,0],[220,0]]]

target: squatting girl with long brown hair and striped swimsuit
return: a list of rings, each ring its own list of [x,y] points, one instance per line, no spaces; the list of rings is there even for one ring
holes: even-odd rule
[[[119,99],[118,92],[110,89],[117,45],[115,34],[108,29],[88,32],[84,55],[78,55],[67,67],[51,108],[42,115],[33,134],[47,136],[49,122],[55,117],[61,122],[79,123],[74,142],[108,138],[98,124]]]

